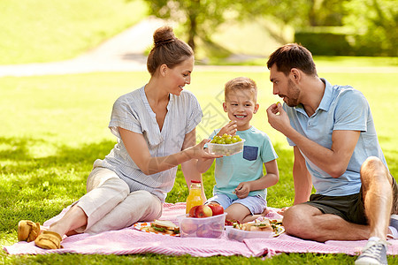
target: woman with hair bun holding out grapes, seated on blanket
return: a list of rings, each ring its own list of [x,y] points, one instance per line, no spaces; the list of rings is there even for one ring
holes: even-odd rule
[[[118,143],[88,176],[87,191],[48,231],[40,224],[20,221],[19,240],[42,248],[59,248],[62,236],[79,232],[119,230],[162,214],[172,189],[177,165],[187,183],[201,180],[198,158],[215,158],[203,151],[207,140],[195,145],[195,126],[203,116],[190,83],[194,53],[171,27],[154,33],[147,61],[150,79],[144,87],[122,95],[114,103],[109,127]]]

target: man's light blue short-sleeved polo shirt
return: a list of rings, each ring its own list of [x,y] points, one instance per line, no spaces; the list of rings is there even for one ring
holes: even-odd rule
[[[332,178],[302,154],[318,194],[344,196],[359,193],[359,171],[366,158],[371,155],[377,156],[387,166],[379,146],[371,109],[360,91],[349,86],[332,86],[325,79],[322,81],[325,83],[325,94],[311,117],[308,117],[301,104],[288,107],[284,103],[283,108],[290,118],[290,124],[298,133],[325,148],[332,147],[334,130],[361,131],[347,170],[340,178]],[[295,146],[292,140],[287,141],[290,146]]]

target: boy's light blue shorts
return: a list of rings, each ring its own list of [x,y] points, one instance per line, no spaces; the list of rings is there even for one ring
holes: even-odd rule
[[[223,208],[228,208],[233,203],[240,203],[241,205],[249,208],[251,215],[257,215],[263,213],[264,209],[267,208],[267,201],[264,200],[260,195],[248,196],[243,199],[233,200],[226,194],[216,194],[206,201],[205,204],[210,202],[218,202]]]

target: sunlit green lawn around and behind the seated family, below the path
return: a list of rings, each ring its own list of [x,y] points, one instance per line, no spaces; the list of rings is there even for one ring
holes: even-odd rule
[[[387,163],[393,175],[398,176],[398,142],[394,139],[398,134],[394,117],[398,98],[394,80],[398,74],[320,72],[319,75],[332,83],[350,84],[363,91],[371,104]],[[267,106],[278,100],[272,95],[267,72],[194,72],[188,89],[198,97],[205,114],[209,110],[213,113],[211,119],[203,117],[198,138],[206,137],[214,126],[224,122],[220,94],[226,81],[236,76],[256,80],[260,110],[253,125],[270,135],[279,154],[280,180],[269,189],[269,205],[277,208],[290,205],[294,195],[292,149],[283,135],[266,122]],[[119,95],[141,87],[148,78],[146,72],[123,72],[0,79],[0,246],[17,242],[19,220],[33,219],[42,223],[85,193],[85,179],[92,163],[107,155],[115,144],[115,138],[107,128],[112,103]],[[214,185],[212,170],[203,176],[208,197]],[[183,201],[187,195],[179,170],[176,185],[166,201]],[[239,256],[194,258],[155,254],[11,256],[0,251],[0,263],[7,264],[347,264],[354,260],[355,257],[344,254],[281,254],[262,261]],[[398,264],[394,257],[389,257],[389,262]]]

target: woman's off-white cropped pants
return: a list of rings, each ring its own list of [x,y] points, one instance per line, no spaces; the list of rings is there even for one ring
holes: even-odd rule
[[[126,182],[115,172],[95,168],[87,180],[87,192],[75,206],[88,216],[86,227],[77,232],[96,234],[119,230],[136,222],[153,221],[162,215],[162,202],[147,191],[130,193]]]

